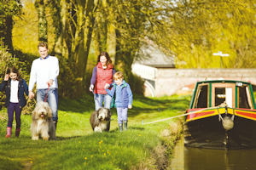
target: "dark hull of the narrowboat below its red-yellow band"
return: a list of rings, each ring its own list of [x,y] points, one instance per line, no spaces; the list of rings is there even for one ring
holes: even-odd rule
[[[236,112],[241,111],[236,110],[233,114],[212,114],[203,118],[190,116],[192,119],[187,119],[184,123],[184,144],[211,149],[256,148],[256,121],[253,118],[237,116],[234,114]],[[229,130],[223,125],[225,116],[233,122]]]

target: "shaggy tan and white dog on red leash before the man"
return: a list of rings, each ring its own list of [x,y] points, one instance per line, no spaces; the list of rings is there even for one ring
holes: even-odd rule
[[[32,111],[32,140],[40,137],[44,140],[55,139],[55,125],[52,121],[52,111],[47,102],[38,102]]]

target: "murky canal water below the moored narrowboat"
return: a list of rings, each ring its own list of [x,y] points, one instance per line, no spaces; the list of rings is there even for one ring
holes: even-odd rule
[[[256,149],[209,150],[178,141],[168,170],[256,170]]]

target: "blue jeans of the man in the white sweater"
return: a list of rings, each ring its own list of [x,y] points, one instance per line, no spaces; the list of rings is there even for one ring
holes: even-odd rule
[[[47,94],[47,97],[46,97]],[[49,103],[49,107],[52,111],[52,120],[58,122],[58,88],[47,88],[37,90],[37,101],[44,101]]]

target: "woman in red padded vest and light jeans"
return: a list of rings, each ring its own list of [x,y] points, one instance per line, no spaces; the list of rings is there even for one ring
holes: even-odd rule
[[[115,70],[112,61],[107,52],[99,54],[97,65],[93,68],[92,77],[90,79],[90,92],[94,94],[95,110],[102,107],[110,109],[111,97],[107,94],[105,88],[113,82],[113,74]]]

